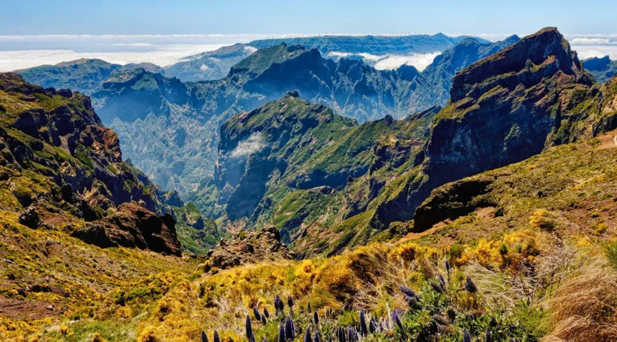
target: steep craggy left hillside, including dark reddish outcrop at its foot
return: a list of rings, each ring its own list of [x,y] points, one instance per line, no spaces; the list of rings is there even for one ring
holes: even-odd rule
[[[43,90],[14,73],[0,73],[0,95],[0,210],[97,246],[180,255],[175,221],[154,213],[167,209],[162,191],[122,162],[117,135],[86,96]]]

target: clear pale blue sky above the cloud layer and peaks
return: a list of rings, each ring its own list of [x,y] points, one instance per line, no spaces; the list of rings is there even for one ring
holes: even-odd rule
[[[616,0],[3,1],[0,36],[34,34],[617,33]]]

